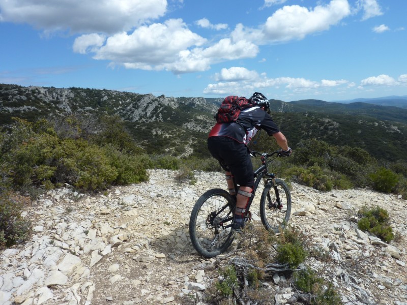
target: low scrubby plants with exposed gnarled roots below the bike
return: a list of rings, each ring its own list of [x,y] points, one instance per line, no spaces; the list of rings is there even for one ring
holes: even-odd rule
[[[280,285],[293,283],[307,299],[308,304],[340,304],[340,297],[334,286],[317,272],[309,267],[302,267],[299,272],[292,271],[305,264],[308,254],[312,253],[311,238],[308,234],[290,226],[280,234],[274,234],[254,223],[246,225],[244,234],[245,238],[241,242],[242,256],[235,255],[236,260],[229,260],[226,266],[221,266],[219,279],[206,292],[206,300],[209,303],[273,304],[276,292],[264,285],[264,282],[272,282],[276,271],[271,270],[281,268],[285,270],[283,274],[290,281]],[[323,257],[321,253],[317,254]],[[270,265],[274,267],[268,269]],[[278,274],[281,276],[282,272]]]

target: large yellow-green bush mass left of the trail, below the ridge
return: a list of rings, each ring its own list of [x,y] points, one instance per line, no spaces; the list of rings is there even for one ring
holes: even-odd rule
[[[33,125],[17,121],[11,134],[0,138],[4,153],[2,173],[19,189],[32,184],[52,189],[67,182],[83,190],[97,190],[148,179],[147,168],[151,162],[146,155],[135,153],[139,150],[126,142],[100,146],[75,138],[81,134],[80,130],[77,126],[73,131],[60,130],[64,137],[59,138],[46,122]],[[22,131],[29,137],[23,138]],[[14,133],[21,139],[20,143],[13,142]]]

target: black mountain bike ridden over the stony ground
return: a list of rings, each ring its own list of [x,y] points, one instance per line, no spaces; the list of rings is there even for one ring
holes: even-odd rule
[[[259,207],[261,222],[267,230],[277,233],[287,224],[291,213],[291,194],[287,185],[268,172],[269,163],[280,156],[280,150],[273,153],[252,150],[251,156],[260,157],[261,165],[254,171],[253,194],[243,219],[246,223],[252,219],[249,208],[261,181],[264,185]],[[237,193],[239,186],[235,180],[233,182]],[[189,220],[189,236],[199,254],[210,258],[229,248],[235,238],[235,232],[231,230],[235,208],[236,199],[223,189],[211,189],[198,198]]]

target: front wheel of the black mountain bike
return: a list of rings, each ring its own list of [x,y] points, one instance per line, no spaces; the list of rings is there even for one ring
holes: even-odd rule
[[[272,182],[269,182],[261,193],[261,222],[267,230],[273,230],[277,233],[286,226],[290,214],[291,194],[287,185],[281,179],[276,179],[276,187],[273,186]]]

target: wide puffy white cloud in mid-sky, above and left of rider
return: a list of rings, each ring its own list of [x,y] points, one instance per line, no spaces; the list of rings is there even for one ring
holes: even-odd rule
[[[168,70],[176,74],[206,71],[211,64],[255,57],[258,53],[258,47],[248,41],[224,38],[203,47],[206,43],[205,38],[191,32],[181,19],[169,19],[106,40],[98,35],[82,35],[76,38],[74,51],[94,53],[95,59],[110,60],[112,66]]]

